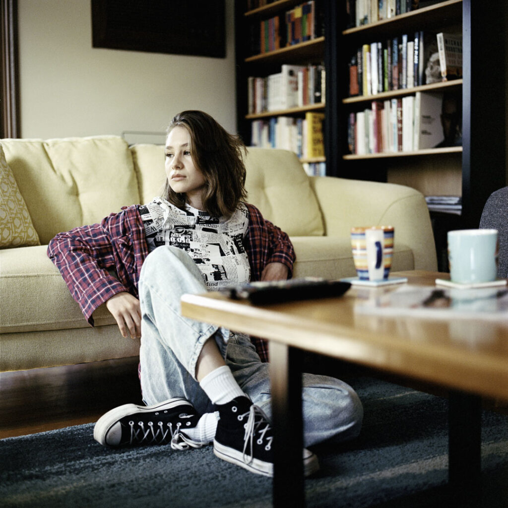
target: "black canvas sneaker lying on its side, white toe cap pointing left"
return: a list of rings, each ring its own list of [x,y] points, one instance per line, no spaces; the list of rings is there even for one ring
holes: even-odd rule
[[[184,432],[196,427],[199,418],[194,406],[180,397],[153,406],[125,404],[97,421],[93,437],[111,447],[169,443],[173,450],[201,448],[206,443],[194,441]]]

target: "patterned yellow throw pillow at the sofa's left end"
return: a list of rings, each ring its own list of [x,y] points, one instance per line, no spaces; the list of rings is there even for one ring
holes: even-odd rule
[[[0,247],[39,245],[26,203],[0,144]]]

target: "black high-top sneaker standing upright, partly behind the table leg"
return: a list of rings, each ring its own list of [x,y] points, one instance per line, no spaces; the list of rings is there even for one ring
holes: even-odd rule
[[[263,410],[247,397],[216,405],[219,421],[213,453],[253,473],[273,476],[273,430]],[[315,454],[303,449],[304,475],[319,469]]]

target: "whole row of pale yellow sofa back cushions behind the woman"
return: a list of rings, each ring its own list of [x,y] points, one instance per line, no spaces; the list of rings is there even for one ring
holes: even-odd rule
[[[118,136],[3,139],[7,164],[42,244],[122,206],[147,203],[165,182],[164,147],[129,147]],[[248,201],[291,236],[323,235],[309,178],[290,151],[249,148]]]

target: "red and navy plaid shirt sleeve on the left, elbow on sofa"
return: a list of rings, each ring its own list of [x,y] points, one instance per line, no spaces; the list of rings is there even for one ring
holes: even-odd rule
[[[138,274],[146,255],[136,207],[111,214],[100,224],[59,233],[48,245],[48,257],[92,326],[93,311],[112,296],[122,291],[137,296]]]

